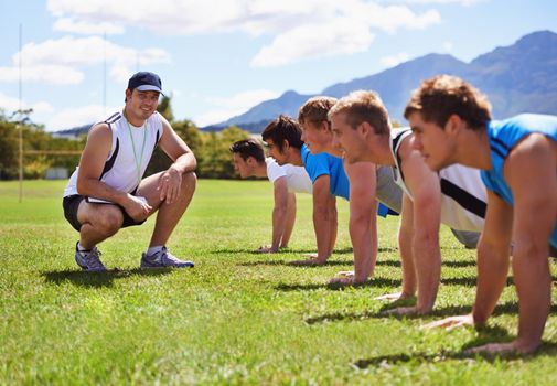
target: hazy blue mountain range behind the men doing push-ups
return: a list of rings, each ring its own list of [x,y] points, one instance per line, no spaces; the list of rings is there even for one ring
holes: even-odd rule
[[[429,54],[378,74],[339,83],[319,95],[342,97],[356,89],[377,92],[390,117],[404,122],[403,112],[413,89],[437,74],[460,76],[488,95],[493,117],[501,119],[518,112],[557,115],[557,34],[539,31],[521,37],[513,45],[496,47],[470,63],[451,55]],[[298,116],[299,107],[313,95],[293,90],[266,100],[247,112],[204,129],[218,130],[236,125],[260,132],[280,114]]]

